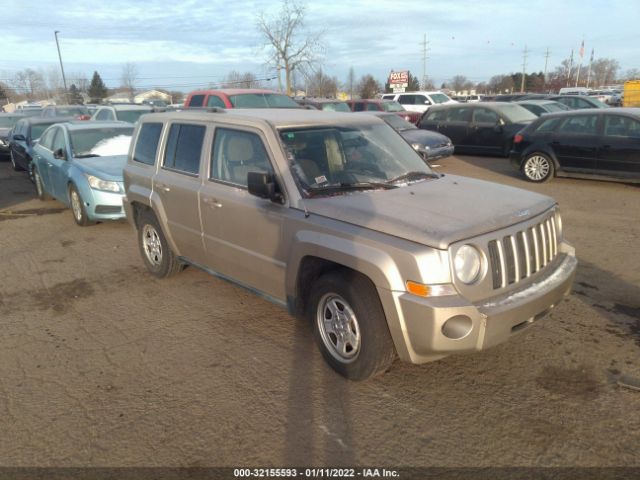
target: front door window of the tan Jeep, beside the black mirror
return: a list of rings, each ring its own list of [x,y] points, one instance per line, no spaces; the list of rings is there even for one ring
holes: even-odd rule
[[[241,130],[216,129],[211,179],[246,186],[249,172],[273,172],[260,137]]]

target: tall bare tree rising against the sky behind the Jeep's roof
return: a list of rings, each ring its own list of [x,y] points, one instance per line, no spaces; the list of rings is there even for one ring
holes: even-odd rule
[[[294,0],[284,0],[279,14],[257,17],[257,27],[265,38],[265,48],[271,50],[269,63],[284,70],[287,95],[291,95],[293,72],[319,63],[324,50],[322,33],[307,33],[304,28],[305,7]]]

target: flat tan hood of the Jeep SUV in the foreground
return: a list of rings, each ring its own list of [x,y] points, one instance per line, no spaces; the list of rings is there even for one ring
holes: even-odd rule
[[[439,249],[523,222],[555,205],[544,195],[456,175],[304,202],[311,214]]]

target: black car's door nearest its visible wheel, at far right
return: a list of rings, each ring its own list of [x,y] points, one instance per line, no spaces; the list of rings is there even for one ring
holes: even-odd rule
[[[602,144],[599,115],[569,116],[553,135],[551,146],[563,169],[594,170]]]

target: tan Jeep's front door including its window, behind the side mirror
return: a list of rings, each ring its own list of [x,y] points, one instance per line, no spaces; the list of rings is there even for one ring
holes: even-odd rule
[[[216,128],[200,208],[208,265],[247,287],[285,301],[285,207],[247,190],[249,172],[273,171],[260,134]]]

